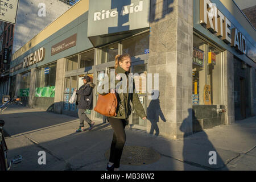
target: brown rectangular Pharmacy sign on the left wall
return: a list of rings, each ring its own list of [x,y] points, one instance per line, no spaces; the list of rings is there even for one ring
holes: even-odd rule
[[[76,46],[76,34],[52,46],[51,56],[61,51],[64,51],[65,49],[71,48],[73,46]]]

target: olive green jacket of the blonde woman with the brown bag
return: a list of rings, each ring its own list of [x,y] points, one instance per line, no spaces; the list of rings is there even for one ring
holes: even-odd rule
[[[133,81],[133,93],[129,93],[128,73],[119,66],[117,67],[117,69],[115,69],[115,86],[119,85],[118,83],[122,81],[122,78],[120,76],[118,76],[119,73],[124,73],[127,77],[127,86],[126,86],[126,88],[123,89],[123,90],[126,89],[127,92],[117,94],[117,99],[118,99],[117,116],[113,117],[113,118],[127,119],[129,117],[129,115],[131,114],[130,101],[132,102],[133,107],[134,107],[136,113],[139,115],[139,117],[141,117],[141,118],[146,117],[146,113],[141,104],[141,101],[139,101],[138,94],[135,93],[134,81]],[[108,78],[109,78],[109,90],[108,90],[109,92],[108,93],[110,93],[110,73],[108,74]],[[102,86],[102,88],[104,88],[104,86]],[[122,86],[120,86],[120,88],[122,89]],[[99,93],[99,94],[105,95],[107,93]]]

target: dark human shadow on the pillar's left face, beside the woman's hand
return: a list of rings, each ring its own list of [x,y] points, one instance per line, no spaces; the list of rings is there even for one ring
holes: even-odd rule
[[[162,113],[161,107],[160,107],[160,101],[159,101],[159,90],[153,90],[151,95],[158,94],[158,97],[155,100],[151,100],[150,104],[147,107],[147,119],[151,122],[151,129],[150,134],[154,134],[158,136],[160,131],[158,127],[159,117],[162,119],[162,121],[166,122],[166,118],[164,118],[164,115]]]

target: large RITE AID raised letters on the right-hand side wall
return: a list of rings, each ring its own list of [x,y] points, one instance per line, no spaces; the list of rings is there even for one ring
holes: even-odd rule
[[[235,47],[238,52],[246,54],[245,36],[237,28],[230,30],[231,22],[210,0],[200,0],[200,23],[225,43],[231,43],[230,46]]]

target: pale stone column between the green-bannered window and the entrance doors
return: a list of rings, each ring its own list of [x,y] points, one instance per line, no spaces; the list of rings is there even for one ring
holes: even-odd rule
[[[54,97],[54,112],[61,114],[63,107],[63,90],[65,80],[65,59],[57,60],[56,67],[56,82],[55,82],[55,97]]]

